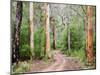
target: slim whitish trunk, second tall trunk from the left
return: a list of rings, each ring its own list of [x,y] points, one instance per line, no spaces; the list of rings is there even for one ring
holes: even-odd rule
[[[30,52],[31,56],[30,59],[32,60],[32,57],[34,55],[34,22],[33,22],[33,2],[30,2],[30,9],[29,9],[29,15],[30,15]]]

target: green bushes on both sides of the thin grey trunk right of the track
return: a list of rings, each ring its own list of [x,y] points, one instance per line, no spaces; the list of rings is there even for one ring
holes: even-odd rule
[[[84,49],[85,50],[85,31],[84,31],[84,24],[83,22],[77,23],[76,17],[73,17],[73,19],[70,22],[70,47],[71,49],[79,50]],[[67,25],[65,26],[65,29],[62,32],[62,50],[68,49],[68,29]]]

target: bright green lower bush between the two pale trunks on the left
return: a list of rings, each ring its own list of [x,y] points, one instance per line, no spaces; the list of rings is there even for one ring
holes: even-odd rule
[[[35,57],[42,58],[44,56],[45,50],[45,32],[43,27],[39,27],[34,33],[34,43],[35,43]]]

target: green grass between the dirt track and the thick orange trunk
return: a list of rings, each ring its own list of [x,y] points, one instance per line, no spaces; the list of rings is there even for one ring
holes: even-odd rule
[[[70,50],[70,52],[66,51],[66,52],[63,52],[63,53],[66,54],[66,56],[79,58],[80,63],[83,65],[84,69],[95,69],[96,68],[95,60],[94,60],[92,65],[88,65],[86,53],[85,53],[85,50],[83,50],[83,49]]]

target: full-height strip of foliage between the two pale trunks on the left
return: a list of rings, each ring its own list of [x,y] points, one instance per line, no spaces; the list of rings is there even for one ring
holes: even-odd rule
[[[44,57],[45,50],[45,13],[41,9],[42,6],[42,3],[34,3],[34,20],[36,23],[36,29],[34,31],[34,54],[37,59]]]

